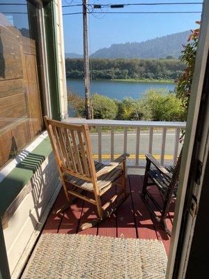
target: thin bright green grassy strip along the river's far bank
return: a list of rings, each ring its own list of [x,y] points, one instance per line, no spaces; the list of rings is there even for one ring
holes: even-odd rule
[[[75,78],[75,77],[66,77],[66,79],[69,80],[84,80],[82,78]],[[176,84],[174,80],[151,80],[151,79],[142,79],[142,80],[135,80],[135,79],[115,79],[115,80],[105,80],[105,79],[95,79],[93,81],[99,81],[99,82],[130,82],[130,83],[170,83],[170,84]]]

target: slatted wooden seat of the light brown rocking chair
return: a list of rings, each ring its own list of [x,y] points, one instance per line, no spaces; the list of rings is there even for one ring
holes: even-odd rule
[[[96,172],[98,172],[100,169],[106,166],[102,163],[98,163],[98,162],[94,162],[94,163],[95,163]],[[111,172],[108,172],[107,174],[102,174],[101,176],[99,176],[98,177],[99,191],[101,192],[105,187],[109,186],[109,184],[115,181],[119,176],[121,176],[121,174],[122,174],[121,169],[116,168],[113,169]],[[65,181],[84,190],[93,192],[93,183],[88,182],[84,179],[78,179],[75,176],[67,174],[65,175]]]

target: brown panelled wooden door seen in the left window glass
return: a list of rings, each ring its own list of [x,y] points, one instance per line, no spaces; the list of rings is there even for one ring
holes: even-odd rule
[[[42,130],[35,40],[1,14],[0,167]]]

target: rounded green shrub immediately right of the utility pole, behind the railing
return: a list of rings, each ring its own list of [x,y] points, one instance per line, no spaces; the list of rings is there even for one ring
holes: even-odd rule
[[[93,118],[116,119],[118,105],[114,100],[106,96],[94,94],[91,98],[93,107]]]

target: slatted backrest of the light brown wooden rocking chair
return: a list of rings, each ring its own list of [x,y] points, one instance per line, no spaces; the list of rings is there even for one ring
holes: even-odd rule
[[[61,169],[68,169],[89,179],[95,180],[95,165],[91,150],[88,126],[73,125],[45,118],[48,133],[52,139],[55,156]]]

